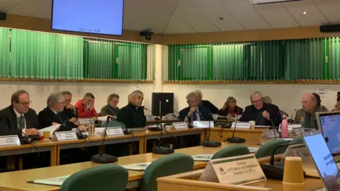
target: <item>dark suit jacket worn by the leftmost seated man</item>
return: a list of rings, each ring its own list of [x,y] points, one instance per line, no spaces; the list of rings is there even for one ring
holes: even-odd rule
[[[38,116],[35,110],[29,108],[28,112],[25,113],[24,116],[27,129],[39,129]],[[22,137],[22,130],[18,129],[18,122],[16,119],[16,112],[14,112],[12,105],[9,105],[7,108],[0,111],[1,136],[18,134],[19,137]]]

